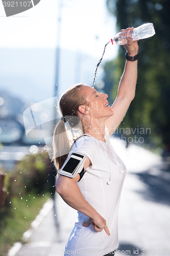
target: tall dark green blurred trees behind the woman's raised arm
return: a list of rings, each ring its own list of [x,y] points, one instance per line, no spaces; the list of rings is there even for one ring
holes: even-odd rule
[[[161,138],[164,145],[169,146],[169,1],[107,0],[107,6],[109,11],[117,17],[117,30],[137,27],[147,22],[154,24],[156,34],[152,38],[138,42],[141,54],[138,60],[136,95],[124,122],[130,127],[137,125],[150,127],[152,137]],[[113,98],[115,98],[119,78],[123,73],[125,52],[123,47],[119,47],[117,59],[105,65],[105,83],[107,84],[107,81],[114,76]],[[114,71],[108,72],[111,69]]]

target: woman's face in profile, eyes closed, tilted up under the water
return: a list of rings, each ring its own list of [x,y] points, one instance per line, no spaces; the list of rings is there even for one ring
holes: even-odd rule
[[[83,86],[81,89],[89,105],[89,113],[93,118],[108,118],[113,115],[111,106],[108,105],[107,94],[98,93],[90,86]]]

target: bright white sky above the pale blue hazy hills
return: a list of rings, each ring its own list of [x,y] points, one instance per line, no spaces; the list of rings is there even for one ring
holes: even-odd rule
[[[0,2],[0,47],[55,48],[59,44],[100,58],[105,44],[116,34],[115,22],[105,0],[41,0],[10,17]],[[117,46],[109,48],[105,60],[116,56]]]

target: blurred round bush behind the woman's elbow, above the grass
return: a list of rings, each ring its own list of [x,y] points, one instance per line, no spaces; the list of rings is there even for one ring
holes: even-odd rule
[[[55,168],[46,152],[28,155],[17,162],[12,172],[7,174],[8,195],[23,197],[30,191],[37,195],[46,192],[53,194],[55,175]]]

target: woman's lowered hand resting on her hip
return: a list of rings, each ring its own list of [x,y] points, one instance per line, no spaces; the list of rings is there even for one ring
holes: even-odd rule
[[[90,224],[95,231],[101,232],[104,229],[108,236],[110,236],[109,229],[106,225],[106,220],[100,214],[98,214],[98,217],[95,219],[89,218],[88,221],[83,224],[83,226],[88,227]]]

